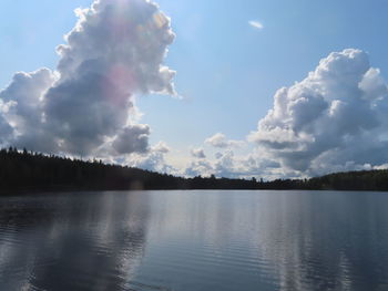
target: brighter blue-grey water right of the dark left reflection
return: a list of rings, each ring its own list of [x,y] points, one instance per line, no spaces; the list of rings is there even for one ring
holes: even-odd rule
[[[386,194],[192,191],[152,200],[160,209],[140,273],[169,278],[176,290],[388,290]]]

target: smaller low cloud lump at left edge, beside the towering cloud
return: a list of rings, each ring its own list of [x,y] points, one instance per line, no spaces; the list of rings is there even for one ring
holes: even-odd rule
[[[43,104],[43,96],[55,80],[49,69],[14,74],[8,87],[0,92],[0,132],[7,132],[2,145],[49,153],[55,148],[47,129]]]

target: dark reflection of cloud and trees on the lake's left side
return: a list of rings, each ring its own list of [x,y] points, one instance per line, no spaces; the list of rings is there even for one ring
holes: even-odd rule
[[[144,253],[145,198],[73,194],[3,200],[0,289],[129,290]]]

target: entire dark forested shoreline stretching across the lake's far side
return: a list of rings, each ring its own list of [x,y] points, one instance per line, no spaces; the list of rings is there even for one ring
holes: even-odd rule
[[[0,191],[126,189],[334,189],[388,190],[388,170],[337,173],[312,179],[264,181],[167,174],[43,155],[10,147],[0,150]]]

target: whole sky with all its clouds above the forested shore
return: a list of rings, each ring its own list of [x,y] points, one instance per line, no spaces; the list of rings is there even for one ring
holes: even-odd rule
[[[388,163],[386,0],[1,6],[2,146],[185,176]]]

